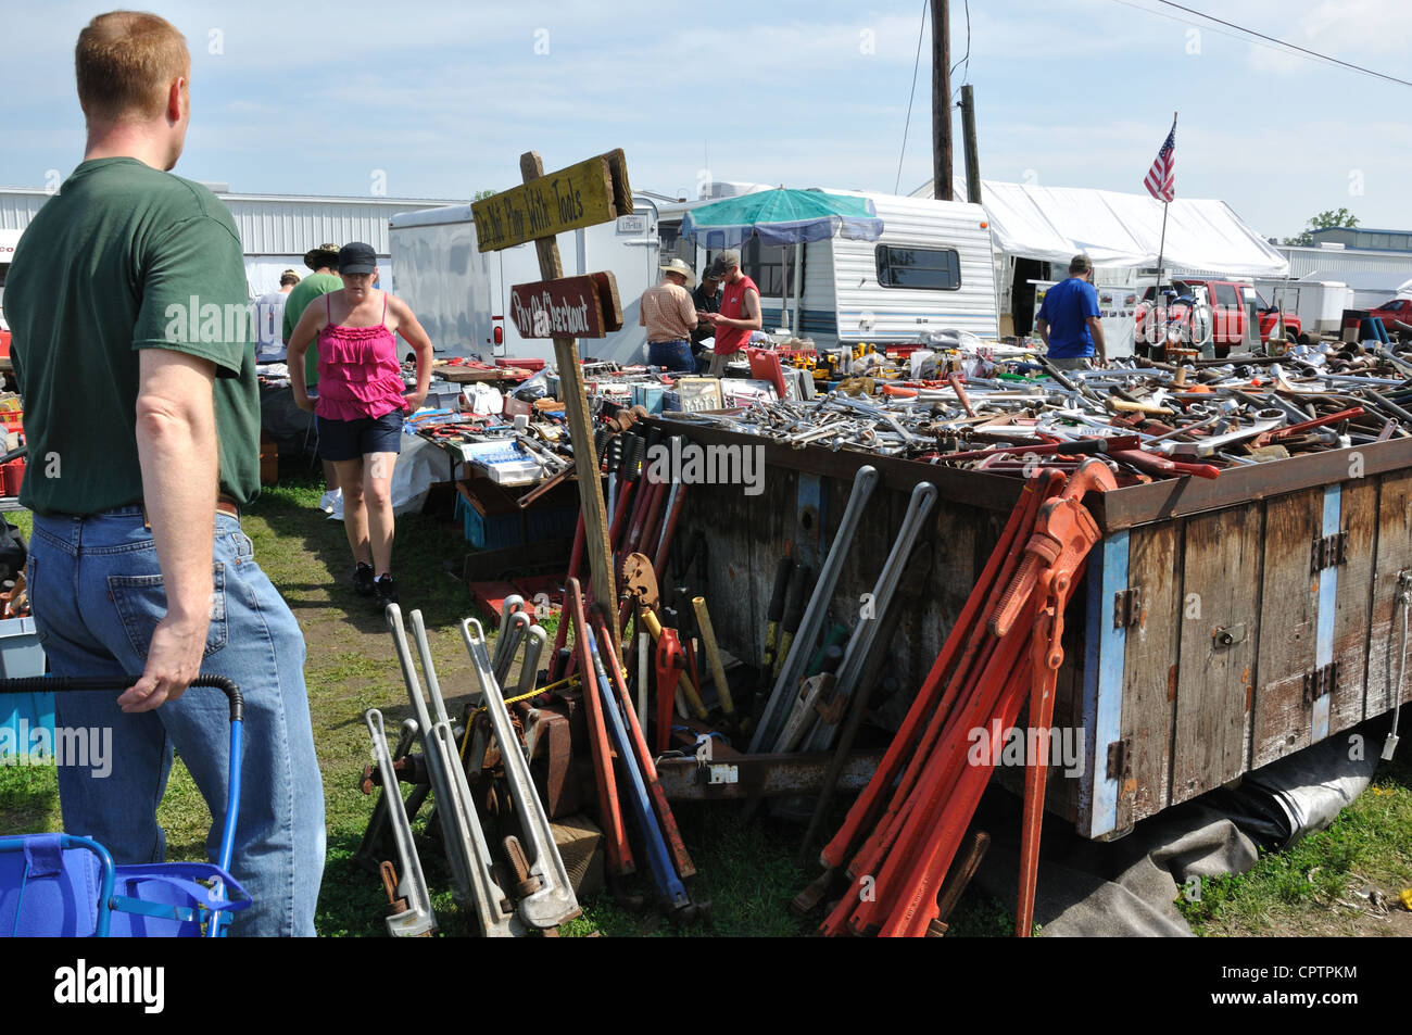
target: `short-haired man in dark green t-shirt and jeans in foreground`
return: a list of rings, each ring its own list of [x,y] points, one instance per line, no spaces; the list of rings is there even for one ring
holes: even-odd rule
[[[226,676],[246,744],[230,871],[254,901],[232,933],[313,935],[323,786],[304,637],[240,530],[260,491],[240,239],[210,191],[167,172],[191,119],[186,42],[114,11],[82,31],[75,68],[83,161],[30,223],[4,299],[35,627],[55,675],[113,686],[55,695],[58,729],[112,731],[103,768],[58,760],[64,826],[120,866],[161,861],[174,747],[223,819],[229,706],[188,686]]]

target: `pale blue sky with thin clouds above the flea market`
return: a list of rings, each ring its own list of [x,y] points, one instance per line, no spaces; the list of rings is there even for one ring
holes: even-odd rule
[[[966,10],[952,0],[952,61]],[[1405,0],[1183,0],[1412,79]],[[892,191],[923,0],[157,3],[192,49],[181,175],[237,192],[465,199],[621,147],[634,186],[703,177]],[[72,52],[93,4],[3,3],[0,184],[79,161]],[[928,34],[929,34],[928,28]],[[931,178],[929,35],[901,191]],[[1412,227],[1412,88],[1288,55],[1156,0],[971,0],[981,174],[1141,191],[1180,112],[1178,193],[1267,236],[1322,209]],[[960,117],[956,116],[957,136]],[[956,162],[960,171],[960,147]]]

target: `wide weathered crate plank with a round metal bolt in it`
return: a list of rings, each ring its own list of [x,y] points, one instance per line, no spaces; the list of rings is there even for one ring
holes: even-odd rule
[[[1244,771],[1254,637],[1216,645],[1223,627],[1260,609],[1262,505],[1231,507],[1186,524],[1172,803]]]

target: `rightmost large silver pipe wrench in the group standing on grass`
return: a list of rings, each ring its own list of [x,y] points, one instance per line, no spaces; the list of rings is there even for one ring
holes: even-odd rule
[[[539,630],[539,634],[542,644],[544,630]],[[534,789],[530,764],[520,750],[520,738],[510,724],[510,712],[505,710],[500,683],[496,682],[491,672],[490,655],[486,651],[486,634],[479,621],[466,618],[460,623],[460,635],[466,641],[466,652],[470,654],[472,668],[476,674],[476,682],[480,685],[496,740],[500,741],[500,758],[510,782],[510,796],[520,816],[520,829],[525,840],[530,842],[532,853],[528,860],[528,873],[521,875],[521,887],[530,892],[520,899],[520,916],[535,928],[556,928],[580,912],[573,897],[573,885],[569,883],[569,873],[563,868],[559,846],[554,842],[554,830],[549,827],[544,803]],[[538,887],[532,887],[535,883]]]

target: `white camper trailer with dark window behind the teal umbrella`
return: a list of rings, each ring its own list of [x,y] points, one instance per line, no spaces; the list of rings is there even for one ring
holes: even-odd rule
[[[929,330],[995,337],[995,264],[986,212],[857,191],[882,220],[875,241],[834,237],[803,246],[741,249],[741,270],[760,287],[765,330],[789,328],[819,349],[854,342],[915,342]],[[709,202],[661,206],[662,261],[679,257],[698,273],[707,253],[681,240],[682,213]],[[799,305],[795,306],[798,288]]]

